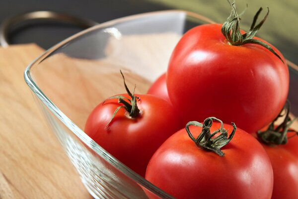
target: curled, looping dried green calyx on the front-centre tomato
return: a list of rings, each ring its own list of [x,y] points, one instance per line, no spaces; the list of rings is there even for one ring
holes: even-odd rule
[[[221,123],[221,127],[213,133],[211,133],[210,128],[213,124],[213,120],[219,121]],[[197,138],[194,138],[194,136],[189,130],[189,126],[191,125],[202,127],[202,131]],[[206,118],[203,124],[197,121],[190,121],[186,124],[185,129],[188,133],[188,136],[196,143],[197,146],[200,146],[203,149],[211,150],[220,156],[224,156],[224,152],[221,151],[221,148],[229,143],[236,131],[236,125],[233,122],[232,126],[233,130],[228,137],[227,130],[224,129],[223,121],[216,117]],[[214,137],[218,133],[220,133],[220,135]]]

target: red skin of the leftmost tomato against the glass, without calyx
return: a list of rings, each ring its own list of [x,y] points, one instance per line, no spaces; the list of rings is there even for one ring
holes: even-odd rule
[[[122,96],[129,98],[127,94]],[[167,101],[150,95],[135,96],[140,97],[137,105],[142,111],[137,118],[128,118],[127,111],[121,108],[106,128],[116,108],[123,104],[118,99],[105,100],[90,113],[85,133],[126,166],[145,176],[149,159],[163,141],[181,128],[181,121]]]

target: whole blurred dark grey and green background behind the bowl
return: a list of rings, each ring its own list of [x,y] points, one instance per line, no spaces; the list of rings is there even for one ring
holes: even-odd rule
[[[236,0],[238,12],[245,9],[246,4],[248,8],[242,16],[242,29],[249,29],[259,7],[265,8],[261,18],[266,13],[266,6],[269,6],[269,17],[257,35],[298,64],[298,0]],[[226,0],[1,0],[0,23],[17,14],[37,10],[62,12],[102,23],[123,16],[165,9],[193,11],[218,23],[223,23],[230,13]],[[53,21],[22,23],[11,28],[9,42],[37,43],[48,49],[80,30],[74,25]]]

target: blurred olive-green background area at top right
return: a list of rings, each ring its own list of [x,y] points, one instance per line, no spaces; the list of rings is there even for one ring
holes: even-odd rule
[[[173,9],[183,9],[204,15],[218,23],[223,23],[230,14],[231,8],[227,0],[147,0],[163,4]],[[261,37],[276,46],[287,59],[298,64],[298,0],[236,0],[238,13],[248,4],[241,19],[241,29],[247,31],[253,16],[260,7],[263,11],[259,19],[266,14],[266,6],[270,13],[258,31]]]

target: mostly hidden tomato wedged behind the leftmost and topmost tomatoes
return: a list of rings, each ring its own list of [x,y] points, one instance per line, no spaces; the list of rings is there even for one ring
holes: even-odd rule
[[[169,103],[171,102],[166,88],[165,73],[159,76],[155,82],[153,82],[147,94],[157,96],[168,101]]]

